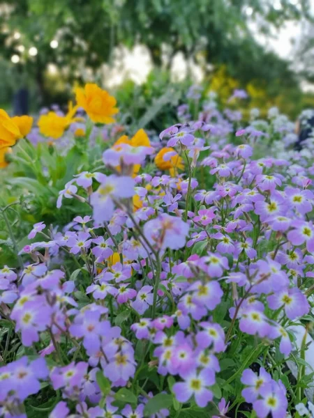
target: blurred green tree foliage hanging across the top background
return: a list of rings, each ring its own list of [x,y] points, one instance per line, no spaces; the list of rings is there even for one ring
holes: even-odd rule
[[[48,65],[57,65],[70,88],[84,72],[92,78],[110,62],[114,47],[137,42],[147,45],[157,65],[168,45],[168,63],[183,52],[227,64],[243,83],[271,82],[283,73],[291,81],[287,64],[264,53],[248,22],[267,33],[287,20],[309,19],[308,10],[309,0],[0,0],[0,48],[16,70],[36,79],[44,103],[51,101]]]

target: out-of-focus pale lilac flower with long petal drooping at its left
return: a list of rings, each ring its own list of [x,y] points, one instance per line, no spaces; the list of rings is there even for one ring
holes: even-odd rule
[[[135,194],[133,178],[127,176],[107,176],[91,194],[94,220],[101,224],[110,221],[114,212],[114,200],[130,198]]]

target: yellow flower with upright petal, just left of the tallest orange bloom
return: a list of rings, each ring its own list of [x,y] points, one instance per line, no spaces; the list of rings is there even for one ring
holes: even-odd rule
[[[73,107],[72,102],[70,102],[68,107],[69,109],[66,116],[59,116],[54,111],[50,111],[47,115],[40,116],[38,120],[40,133],[45,135],[45,137],[52,137],[54,139],[62,137],[64,131],[71,123],[80,120],[80,118],[74,118],[77,106]]]

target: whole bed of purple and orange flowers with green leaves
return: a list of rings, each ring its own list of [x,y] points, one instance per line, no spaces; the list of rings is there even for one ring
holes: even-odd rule
[[[1,415],[312,416],[312,140],[197,86],[148,134],[76,102],[0,114]]]

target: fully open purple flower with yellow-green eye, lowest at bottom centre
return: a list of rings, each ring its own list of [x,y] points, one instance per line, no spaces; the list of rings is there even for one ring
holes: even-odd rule
[[[196,372],[189,373],[185,376],[184,382],[174,383],[172,391],[179,402],[186,403],[194,396],[197,405],[204,408],[213,398],[208,387],[214,383],[214,372],[202,370],[198,375]]]

